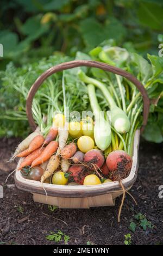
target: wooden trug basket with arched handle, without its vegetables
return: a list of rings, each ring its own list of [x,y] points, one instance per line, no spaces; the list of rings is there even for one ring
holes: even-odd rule
[[[99,68],[126,77],[130,82],[135,84],[137,89],[139,89],[140,93],[142,94],[143,125],[141,127],[141,130],[136,130],[135,132],[133,145],[133,165],[131,167],[130,174],[126,179],[122,180],[124,188],[126,188],[126,190],[129,190],[131,186],[133,186],[137,177],[140,132],[147,124],[149,113],[149,99],[146,90],[142,86],[142,84],[127,71],[116,68],[115,66],[110,66],[108,64],[95,62],[92,60],[74,60],[72,62],[66,62],[56,66],[52,66],[52,68],[46,70],[39,78],[37,78],[37,80],[29,90],[26,104],[29,124],[34,131],[36,129],[36,124],[32,116],[32,101],[35,93],[37,92],[37,89],[41,86],[42,82],[45,81],[47,77],[58,71],[76,68],[78,66]],[[17,167],[20,165],[21,161],[22,159],[20,159],[20,161],[18,162]],[[90,208],[95,206],[111,206],[115,205],[115,198],[123,193],[120,183],[118,181],[93,186],[63,186],[44,183],[43,187],[47,192],[46,196],[40,181],[24,179],[19,170],[16,170],[15,172],[15,184],[20,190],[33,193],[34,202],[56,205],[59,208]]]

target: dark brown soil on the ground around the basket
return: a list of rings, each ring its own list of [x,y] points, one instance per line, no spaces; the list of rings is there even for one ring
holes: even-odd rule
[[[7,163],[7,160],[17,143],[18,139],[1,139],[1,185],[15,168],[15,163]],[[117,223],[117,214],[121,198],[116,199],[113,207],[56,209],[52,212],[47,205],[34,203],[32,194],[18,190],[14,185],[14,175],[11,175],[4,186],[4,198],[0,199],[0,243],[54,245],[55,242],[48,241],[46,235],[61,230],[70,236],[70,245],[86,245],[88,241],[93,245],[123,245],[124,235],[128,233],[133,245],[162,245],[163,198],[158,196],[159,186],[163,185],[162,173],[163,145],[142,142],[139,175],[130,190],[138,205],[129,195],[126,196],[120,224]],[[134,215],[139,212],[151,221],[153,228],[143,230],[138,225],[133,233],[128,227],[131,220],[136,222]],[[64,244],[64,241],[59,244]]]

